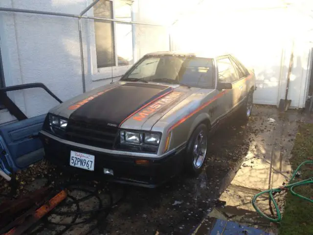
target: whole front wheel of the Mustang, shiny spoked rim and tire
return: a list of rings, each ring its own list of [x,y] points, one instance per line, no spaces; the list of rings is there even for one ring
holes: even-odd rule
[[[207,150],[208,129],[205,124],[200,124],[192,133],[186,152],[185,168],[191,176],[200,174],[204,165]]]

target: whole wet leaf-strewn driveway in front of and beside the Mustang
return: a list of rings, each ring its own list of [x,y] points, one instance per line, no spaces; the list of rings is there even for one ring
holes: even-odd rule
[[[72,198],[55,209],[61,211],[61,215],[50,214],[47,217],[50,223],[45,221],[42,229],[33,231],[61,234],[66,226],[56,224],[70,223],[75,216],[75,213],[62,215],[62,211],[77,211],[77,207],[85,211],[112,207],[64,234],[86,234],[89,228],[94,228],[89,234],[206,235],[217,229],[214,227],[217,223],[222,223],[225,234],[231,234],[226,232],[236,227],[233,222],[238,222],[237,229],[241,229],[242,234],[257,234],[261,230],[275,234],[277,228],[258,216],[251,199],[262,190],[288,181],[291,173],[288,159],[300,119],[297,111],[279,115],[276,108],[254,106],[248,123],[233,117],[215,133],[208,144],[205,169],[198,178],[181,174],[155,189],[118,184],[97,188],[97,182],[88,186],[93,189],[76,186],[69,190]],[[41,184],[44,182],[38,186]],[[281,205],[283,196],[278,195]],[[77,203],[69,205],[70,201],[80,199],[79,206]],[[267,198],[261,198],[259,203],[261,209],[270,212]],[[76,222],[84,218],[87,218],[85,213],[78,216]]]

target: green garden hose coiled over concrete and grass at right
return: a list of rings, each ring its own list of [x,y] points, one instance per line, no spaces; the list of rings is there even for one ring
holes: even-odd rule
[[[313,203],[313,200],[310,199],[310,198],[307,198],[307,197],[304,197],[296,192],[293,191],[293,188],[296,188],[298,186],[301,186],[301,185],[307,185],[307,184],[312,184],[313,183],[313,177],[312,178],[309,178],[309,179],[306,179],[306,180],[302,180],[302,181],[299,181],[299,182],[295,182],[295,183],[291,183],[294,179],[294,177],[296,176],[297,172],[299,171],[300,167],[304,164],[313,164],[313,161],[305,161],[303,163],[301,163],[297,169],[293,172],[292,176],[291,176],[291,179],[289,181],[289,183],[285,186],[282,186],[282,187],[279,187],[279,188],[271,188],[271,189],[268,189],[268,190],[265,190],[263,192],[259,192],[258,194],[256,194],[253,199],[252,199],[252,206],[254,207],[254,209],[263,217],[269,219],[271,222],[276,222],[276,223],[279,223],[282,219],[282,215],[279,211],[279,208],[277,206],[277,202],[275,201],[274,199],[274,196],[273,194],[277,193],[277,192],[281,192],[283,190],[290,190],[291,191],[291,194],[294,195],[294,196],[297,196],[299,198],[302,198],[304,200],[307,200],[309,202],[312,202]],[[258,206],[256,205],[256,200],[259,196],[265,194],[265,193],[268,193],[269,194],[269,198],[271,200],[271,202],[274,204],[274,207],[275,207],[275,210],[277,212],[277,218],[274,219],[274,218],[271,218],[269,217],[268,215],[266,215],[265,213],[263,213],[260,208],[258,208]]]

